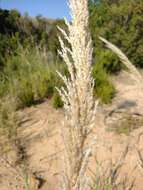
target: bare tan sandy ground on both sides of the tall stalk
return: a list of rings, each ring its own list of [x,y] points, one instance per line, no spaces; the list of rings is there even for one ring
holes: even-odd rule
[[[105,117],[112,110],[128,107],[131,112],[142,114],[143,95],[137,89],[133,81],[126,74],[114,77],[113,82],[117,87],[117,94],[112,105],[100,106],[97,112],[95,130],[93,136],[97,137],[97,144],[93,147],[90,158],[89,171],[96,171],[98,159],[108,167],[108,161],[117,162],[128,144],[128,153],[121,168],[120,178],[125,175],[129,182],[135,178],[134,190],[143,189],[143,169],[139,167],[139,157],[137,149],[143,148],[143,128],[134,130],[129,136],[119,135],[108,130]],[[26,108],[23,110],[23,124],[18,129],[18,138],[24,147],[25,165],[29,169],[29,179],[31,190],[58,190],[59,178],[61,174],[61,155],[63,143],[60,136],[60,127],[63,120],[63,110],[52,108],[50,101]],[[11,165],[16,160],[15,151],[9,153]],[[0,190],[15,190],[15,176],[17,167],[0,166]],[[5,169],[7,168],[7,169]],[[95,169],[94,169],[95,168]],[[92,172],[91,172],[92,173]],[[23,178],[18,179],[19,183]],[[18,190],[24,189],[18,186]],[[125,188],[126,190],[127,188]]]

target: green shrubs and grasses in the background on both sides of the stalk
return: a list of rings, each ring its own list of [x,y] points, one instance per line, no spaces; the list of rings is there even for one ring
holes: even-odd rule
[[[110,103],[115,89],[109,75],[119,72],[122,65],[98,37],[116,44],[142,68],[143,1],[89,0],[89,10],[95,96]],[[45,98],[52,98],[55,108],[62,107],[54,88],[62,84],[56,70],[67,75],[68,72],[57,53],[60,47],[57,25],[66,29],[63,20],[40,15],[31,18],[27,14],[21,16],[17,10],[0,9],[0,99],[15,101],[14,110]]]

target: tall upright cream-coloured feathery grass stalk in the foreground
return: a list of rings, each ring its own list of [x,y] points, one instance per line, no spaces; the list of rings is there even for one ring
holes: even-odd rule
[[[94,127],[97,102],[93,98],[92,41],[88,31],[88,1],[70,0],[71,23],[65,20],[68,32],[59,28],[69,46],[59,37],[59,54],[68,67],[70,77],[58,72],[65,87],[57,88],[64,102],[65,122],[61,129],[65,152],[62,190],[91,189],[86,176],[91,145],[87,137]],[[70,48],[69,48],[70,47]],[[94,139],[92,139],[93,144]]]

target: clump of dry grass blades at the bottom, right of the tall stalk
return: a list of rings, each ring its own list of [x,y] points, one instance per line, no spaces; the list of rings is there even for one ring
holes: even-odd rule
[[[112,148],[109,149],[112,155]],[[92,179],[94,181],[94,190],[132,190],[135,186],[135,178],[130,181],[128,174],[122,175],[122,168],[124,167],[126,157],[129,152],[129,144],[127,144],[119,156],[115,160],[109,158],[109,160],[96,161],[96,170],[93,171],[92,168],[89,168],[91,172]],[[134,172],[136,167],[132,170]],[[132,173],[131,172],[131,173]],[[130,173],[130,175],[131,175]]]

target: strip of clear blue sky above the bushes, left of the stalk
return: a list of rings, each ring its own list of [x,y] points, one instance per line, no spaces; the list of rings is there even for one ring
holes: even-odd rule
[[[2,9],[17,9],[30,16],[41,14],[49,18],[69,18],[68,0],[0,0]]]

